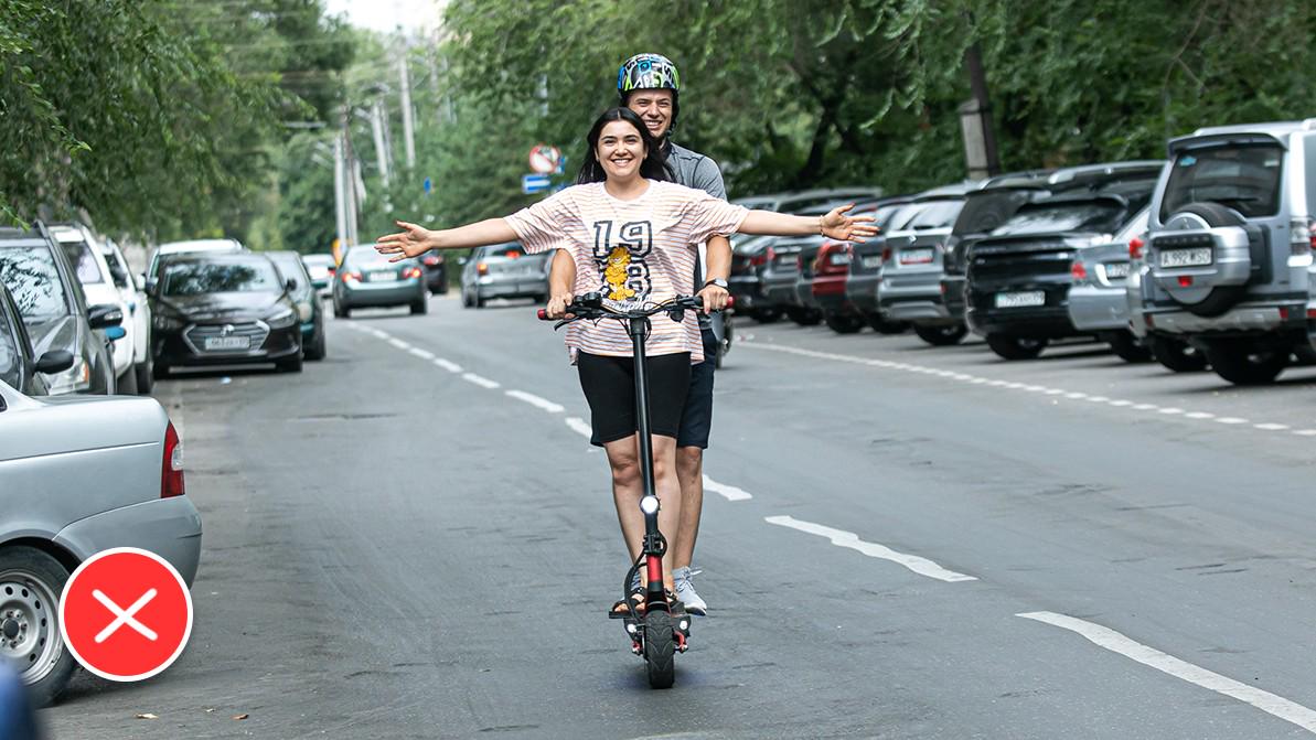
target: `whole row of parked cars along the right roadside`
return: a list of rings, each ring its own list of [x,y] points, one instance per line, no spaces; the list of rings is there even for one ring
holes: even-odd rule
[[[1087,336],[1233,383],[1316,361],[1316,119],[1200,129],[1165,161],[740,200],[805,215],[846,201],[878,237],[737,240],[738,312],[932,345],[974,332],[1005,359]]]

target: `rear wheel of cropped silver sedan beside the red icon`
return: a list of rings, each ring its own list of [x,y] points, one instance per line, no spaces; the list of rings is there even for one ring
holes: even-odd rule
[[[59,635],[59,596],[68,569],[42,550],[0,549],[0,658],[22,666],[33,704],[43,707],[68,686],[74,656]]]

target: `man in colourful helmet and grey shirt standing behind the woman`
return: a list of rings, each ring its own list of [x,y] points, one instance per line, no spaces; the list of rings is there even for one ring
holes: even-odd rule
[[[634,111],[659,142],[659,151],[675,183],[726,200],[726,187],[722,184],[722,172],[717,162],[671,141],[671,130],[680,112],[678,97],[680,74],[670,59],[661,54],[636,54],[626,59],[617,72],[617,95],[621,105]],[[690,392],[686,395],[676,437],[676,478],[680,485],[682,510],[676,536],[670,537],[675,565],[672,575],[676,598],[688,612],[699,615],[707,614],[708,604],[695,593],[690,565],[704,507],[704,450],[708,449],[708,433],[713,420],[713,369],[721,340],[715,333],[715,317],[711,312],[726,307],[726,278],[730,275],[730,267],[732,245],[726,237],[715,236],[707,245],[700,245],[694,284],[705,307],[705,312],[699,315],[704,361],[690,369]],[[553,270],[549,275],[549,294],[570,302],[574,286],[575,261],[566,250],[558,250],[553,257]],[[603,446],[597,433],[590,441]],[[633,470],[638,486],[638,467]],[[620,473],[625,475],[628,471]]]

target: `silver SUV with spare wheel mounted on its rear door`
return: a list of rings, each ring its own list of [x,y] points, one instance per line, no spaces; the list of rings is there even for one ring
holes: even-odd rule
[[[1312,359],[1316,119],[1199,129],[1169,151],[1134,323],[1186,340],[1230,383]]]

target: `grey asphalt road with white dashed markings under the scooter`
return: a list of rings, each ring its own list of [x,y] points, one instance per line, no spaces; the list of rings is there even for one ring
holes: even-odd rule
[[[333,321],[301,375],[161,383],[205,523],[192,641],[79,674],[54,737],[1316,733],[1313,370],[741,321],[711,616],[653,691],[603,616],[625,556],[559,337],[430,307]]]

